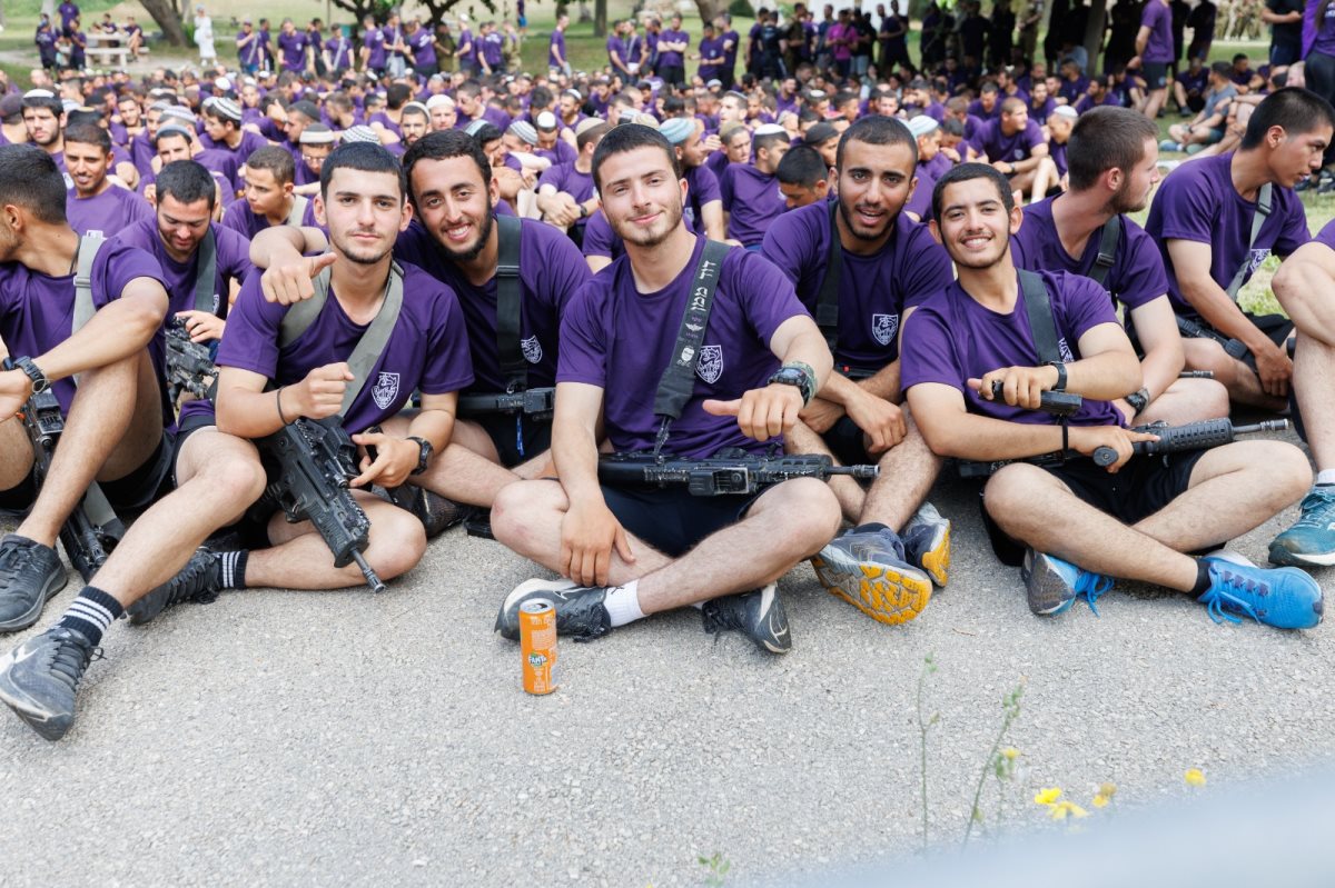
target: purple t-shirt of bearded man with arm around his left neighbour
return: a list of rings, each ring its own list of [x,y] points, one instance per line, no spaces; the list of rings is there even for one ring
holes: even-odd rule
[[[523,220],[519,239],[519,295],[522,317],[519,337],[527,359],[529,387],[554,385],[557,379],[561,315],[571,296],[589,280],[589,265],[574,241],[537,220]],[[469,283],[459,267],[442,252],[435,239],[418,221],[399,235],[394,255],[419,265],[459,295],[473,349],[473,372],[481,392],[505,391],[497,349],[497,283],[482,287]]]

